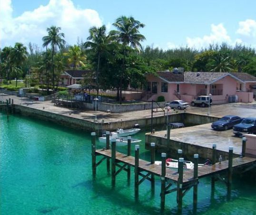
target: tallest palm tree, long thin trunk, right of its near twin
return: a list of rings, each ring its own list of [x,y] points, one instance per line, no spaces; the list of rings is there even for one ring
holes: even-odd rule
[[[116,40],[122,44],[123,47],[123,63],[122,63],[122,74],[120,75],[120,104],[122,103],[122,76],[125,70],[125,57],[126,57],[126,47],[130,46],[136,49],[141,49],[141,41],[146,38],[139,33],[139,28],[144,28],[145,25],[135,20],[133,17],[121,16],[115,23],[113,23],[118,30],[111,31],[110,34],[114,35]]]

